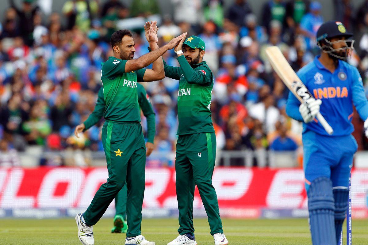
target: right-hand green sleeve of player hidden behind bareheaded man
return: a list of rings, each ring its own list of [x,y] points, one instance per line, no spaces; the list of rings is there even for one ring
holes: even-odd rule
[[[140,85],[140,84],[139,84]],[[138,90],[138,103],[143,111],[143,115],[147,119],[147,138],[148,142],[153,144],[155,138],[156,125],[155,125],[155,112],[153,111],[152,104],[149,101],[149,97],[143,86],[137,86]]]

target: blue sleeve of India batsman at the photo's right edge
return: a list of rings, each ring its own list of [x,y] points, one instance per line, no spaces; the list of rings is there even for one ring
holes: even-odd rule
[[[351,85],[351,89],[353,91],[353,103],[360,118],[365,121],[368,118],[368,101],[367,97],[365,97],[363,81],[357,68],[353,68],[352,74],[353,84]]]

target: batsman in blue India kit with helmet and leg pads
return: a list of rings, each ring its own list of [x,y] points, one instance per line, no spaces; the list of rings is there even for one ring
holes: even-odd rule
[[[336,245],[348,205],[348,180],[357,142],[351,133],[353,104],[368,126],[368,102],[357,68],[346,60],[354,49],[352,33],[338,21],[321,25],[316,41],[322,53],[298,71],[312,93],[300,104],[290,92],[287,114],[303,123],[304,173],[309,224],[314,245]],[[332,126],[329,136],[315,119],[321,112]],[[365,131],[367,135],[367,130]]]

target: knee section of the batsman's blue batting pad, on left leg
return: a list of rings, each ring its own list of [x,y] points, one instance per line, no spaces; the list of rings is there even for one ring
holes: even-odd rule
[[[308,190],[308,209],[312,213],[321,210],[335,212],[332,181],[329,178],[318,177],[311,182]]]

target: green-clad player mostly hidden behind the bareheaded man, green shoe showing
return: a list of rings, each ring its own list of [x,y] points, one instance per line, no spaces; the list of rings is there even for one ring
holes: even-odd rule
[[[146,156],[151,155],[153,151],[153,139],[155,138],[155,112],[153,111],[151,102],[149,101],[148,94],[143,85],[137,83],[138,104],[142,109],[143,115],[147,119],[147,143],[146,143]],[[88,130],[90,127],[99,122],[105,111],[105,99],[103,97],[103,88],[98,91],[98,98],[95,109],[92,114],[88,116],[84,123],[75,127],[74,134],[79,138],[79,133]],[[111,229],[111,233],[127,233],[128,225],[126,222],[126,210],[127,210],[127,185],[123,186],[115,197],[115,209],[116,215],[114,217],[114,227]]]

